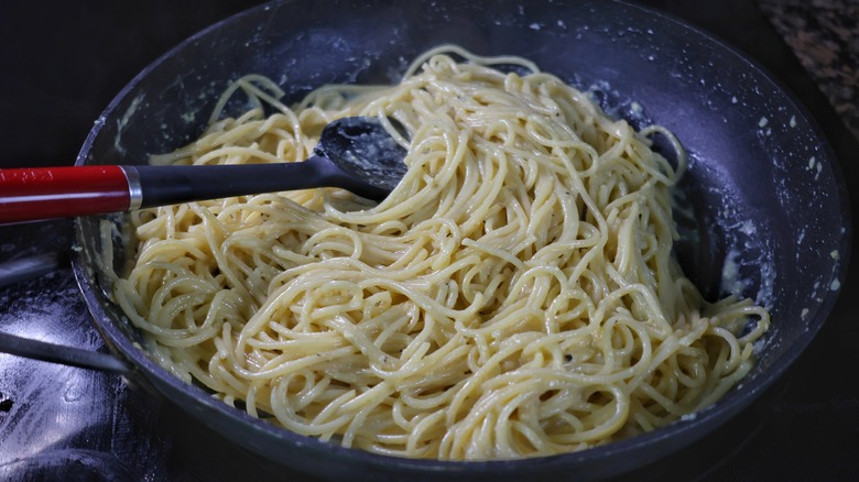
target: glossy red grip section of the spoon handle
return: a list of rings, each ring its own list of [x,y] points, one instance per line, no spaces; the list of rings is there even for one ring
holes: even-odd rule
[[[0,169],[0,223],[123,211],[129,202],[120,166]]]

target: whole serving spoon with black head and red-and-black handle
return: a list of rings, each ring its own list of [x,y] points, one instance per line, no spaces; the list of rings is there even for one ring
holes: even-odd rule
[[[298,163],[0,169],[0,223],[315,187],[381,200],[405,175],[405,154],[379,118],[351,117],[326,125],[314,155]]]

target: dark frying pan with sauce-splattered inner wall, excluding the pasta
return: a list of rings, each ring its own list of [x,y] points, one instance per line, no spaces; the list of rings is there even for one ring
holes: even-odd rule
[[[121,270],[129,256],[123,219],[80,218],[75,275],[97,328],[133,368],[137,383],[250,450],[316,476],[597,479],[706,435],[786,370],[824,322],[847,266],[848,199],[837,163],[805,110],[760,67],[695,29],[633,4],[269,3],[200,32],[134,78],[98,119],[77,164],[142,164],[149,154],[185,144],[202,132],[220,91],[243,74],[269,76],[295,100],[327,83],[395,81],[409,59],[441,43],[529,57],[590,91],[610,114],[676,133],[691,158],[676,199],[684,270],[709,298],[737,292],[772,311],[749,376],[694,417],[576,453],[442,462],[344,449],[254,419],[160,368],[106,295],[106,270]],[[101,238],[102,221],[116,226],[116,235]],[[113,252],[113,266],[100,261],[106,250]]]

